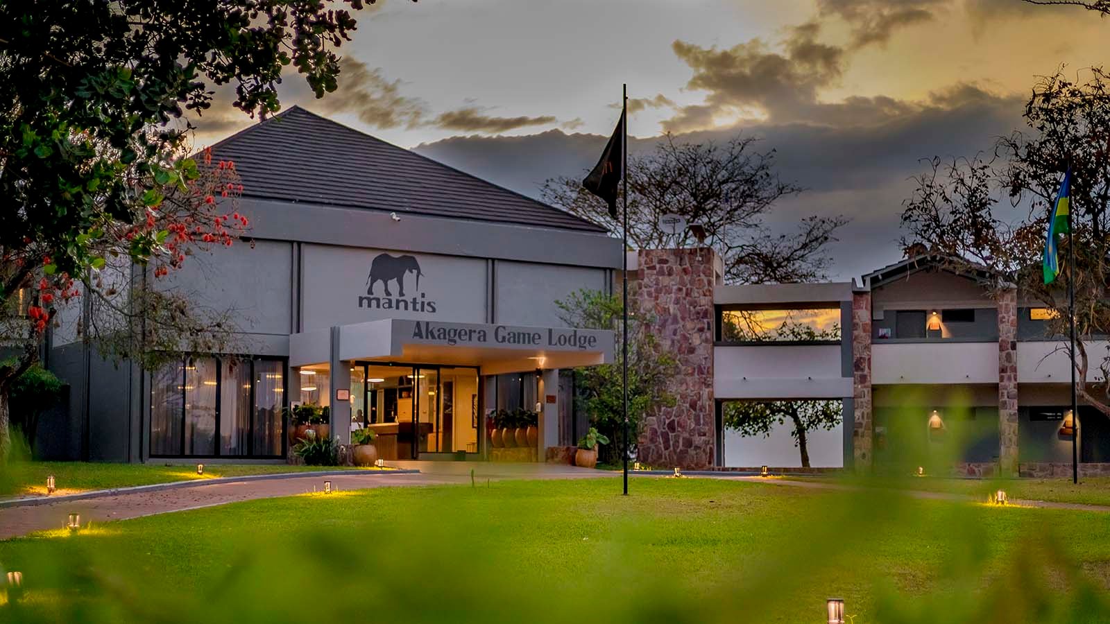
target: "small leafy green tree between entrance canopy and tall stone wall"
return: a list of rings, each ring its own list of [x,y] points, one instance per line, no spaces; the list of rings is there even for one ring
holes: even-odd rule
[[[619,295],[583,289],[556,301],[555,305],[559,309],[559,318],[568,326],[620,331],[624,303]],[[654,319],[639,310],[629,312],[633,313],[628,318],[628,426],[630,440],[636,440],[645,414],[656,407],[675,404],[674,395],[666,388],[678,369],[678,362],[663,350],[652,333]],[[614,442],[601,450],[607,462],[620,460],[620,441],[624,440],[624,356],[618,350],[615,358],[612,364],[575,370],[579,407],[589,414],[591,423],[597,431]]]

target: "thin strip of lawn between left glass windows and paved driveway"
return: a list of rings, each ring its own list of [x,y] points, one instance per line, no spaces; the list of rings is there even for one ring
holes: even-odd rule
[[[204,464],[204,474],[199,475],[196,474],[196,464],[12,462],[3,466],[3,473],[0,474],[0,496],[46,494],[47,476],[51,474],[54,475],[54,483],[59,494],[72,494],[88,490],[151,485],[154,483],[169,483],[171,481],[195,481],[221,476],[317,470],[335,470],[335,466],[325,469],[321,466],[293,466],[285,464]]]

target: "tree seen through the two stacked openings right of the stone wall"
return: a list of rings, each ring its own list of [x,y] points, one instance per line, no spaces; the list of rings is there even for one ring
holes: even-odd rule
[[[817,329],[793,320],[789,315],[775,328],[766,328],[755,315],[724,316],[727,328],[725,335],[748,341],[803,341],[840,340],[840,326]],[[767,437],[776,426],[790,421],[794,445],[801,454],[801,466],[809,467],[809,447],[806,434],[824,429],[831,431],[842,421],[840,401],[733,401],[723,405],[722,424],[740,435],[763,435]]]

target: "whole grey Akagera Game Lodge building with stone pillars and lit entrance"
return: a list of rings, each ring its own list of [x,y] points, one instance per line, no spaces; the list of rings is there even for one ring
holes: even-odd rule
[[[329,406],[343,443],[375,429],[386,460],[496,459],[500,409],[538,412],[533,460],[585,433],[571,371],[612,363],[615,336],[567,326],[556,301],[618,292],[624,252],[604,228],[296,107],[213,155],[243,179],[250,242],[160,283],[234,311],[234,352],[117,366],[78,335],[88,305],[63,310],[44,359],[68,401],[40,422],[41,456],[284,461],[283,409],[297,403]],[[1020,293],[996,301],[929,256],[774,285],[724,284],[708,249],[627,260],[629,295],[679,362],[675,405],[637,441],[643,462],[793,465],[751,461],[760,441],[726,431],[726,403],[770,400],[840,402],[827,465],[1045,474],[1070,461],[1067,358]],[[1097,473],[1110,427],[1088,416],[1082,461]]]

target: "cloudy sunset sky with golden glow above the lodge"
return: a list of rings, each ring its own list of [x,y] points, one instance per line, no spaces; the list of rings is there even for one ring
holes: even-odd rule
[[[340,88],[299,104],[538,197],[596,162],[628,84],[633,150],[758,137],[806,191],[768,224],[850,222],[831,279],[902,256],[902,201],[921,159],[990,152],[1022,129],[1038,77],[1110,61],[1110,19],[1021,0],[379,0],[355,14]],[[254,122],[226,102],[210,144]]]

